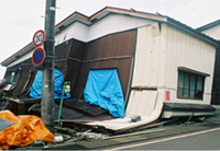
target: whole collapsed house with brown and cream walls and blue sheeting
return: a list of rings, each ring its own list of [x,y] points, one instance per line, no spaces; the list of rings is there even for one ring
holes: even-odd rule
[[[89,18],[75,12],[56,25],[55,46],[55,68],[70,82],[63,121],[118,131],[215,112],[219,43],[174,19],[109,7]],[[41,102],[29,95],[41,70],[31,61],[33,50],[30,43],[1,62],[2,101],[15,102],[18,114]]]

